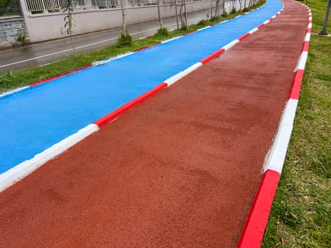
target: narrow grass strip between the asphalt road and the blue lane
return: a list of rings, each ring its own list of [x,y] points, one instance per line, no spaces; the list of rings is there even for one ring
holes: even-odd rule
[[[258,6],[261,6],[264,3],[265,0],[262,0],[259,2],[259,4],[252,7],[251,9],[256,9]],[[27,86],[29,84],[48,79],[50,77],[55,77],[57,75],[64,74],[65,72],[70,72],[74,69],[85,67],[86,65],[99,60],[106,60],[110,57],[115,57],[116,55],[120,55],[125,52],[130,52],[133,50],[138,50],[142,47],[154,45],[162,40],[168,40],[169,38],[174,38],[185,33],[191,33],[198,28],[203,28],[208,25],[225,21],[237,16],[238,14],[240,13],[237,12],[229,15],[219,16],[218,18],[214,18],[213,21],[201,21],[198,24],[189,26],[187,30],[174,30],[169,32],[167,37],[151,36],[141,40],[135,40],[133,45],[130,47],[118,47],[116,45],[111,45],[95,52],[85,52],[79,53],[77,55],[71,55],[65,60],[53,62],[52,64],[47,64],[43,67],[32,67],[29,69],[22,69],[6,73],[0,72],[0,93],[10,91],[12,89],[17,89],[22,86]]]

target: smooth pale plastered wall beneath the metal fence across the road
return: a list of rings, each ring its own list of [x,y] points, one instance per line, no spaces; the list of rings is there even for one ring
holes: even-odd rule
[[[208,9],[210,1],[199,1],[187,4],[187,12]],[[63,38],[67,36],[64,29],[64,13],[38,13],[31,14],[26,11],[24,0],[21,0],[23,16],[26,21],[28,36],[31,42]],[[128,7],[125,9],[126,23],[142,23],[157,19],[157,6]],[[162,18],[175,16],[174,6],[161,6]],[[74,35],[94,32],[107,28],[120,27],[122,14],[120,9],[87,9],[77,10],[74,14]]]

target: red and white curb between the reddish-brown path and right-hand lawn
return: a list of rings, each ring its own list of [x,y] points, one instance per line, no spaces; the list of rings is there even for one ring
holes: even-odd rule
[[[308,11],[308,26],[303,41],[301,56],[299,57],[295,69],[296,74],[293,79],[291,94],[284,108],[284,113],[281,117],[276,137],[274,138],[273,145],[269,152],[269,157],[264,165],[262,181],[249,211],[245,227],[242,230],[240,240],[237,244],[238,248],[261,246],[271,205],[274,201],[274,195],[283,169],[288,142],[293,130],[296,107],[298,106],[298,98],[301,90],[305,62],[308,57],[308,47],[312,28],[312,14],[310,9],[307,6],[305,7]]]

